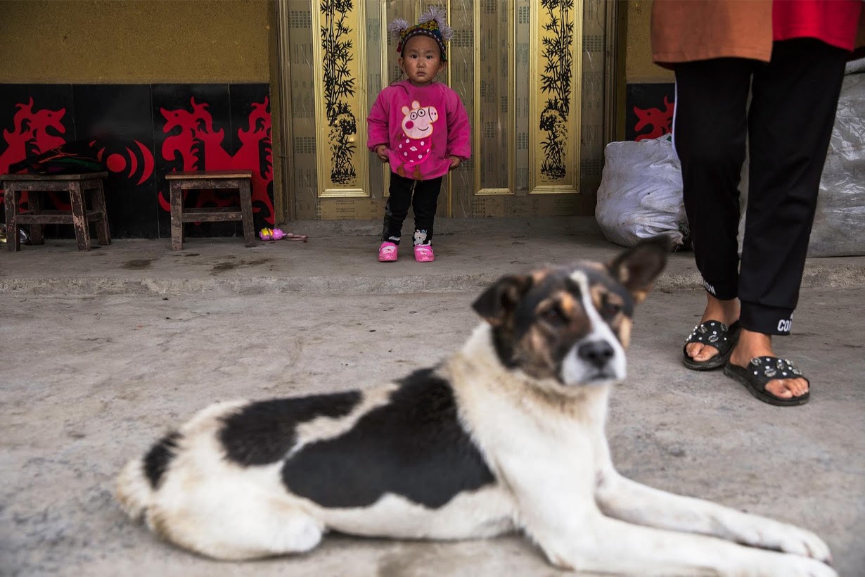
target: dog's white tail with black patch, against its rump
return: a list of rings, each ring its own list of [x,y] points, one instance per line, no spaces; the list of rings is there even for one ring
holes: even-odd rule
[[[144,458],[134,458],[120,471],[115,497],[133,521],[144,516],[165,471],[175,457],[180,433],[169,433]]]

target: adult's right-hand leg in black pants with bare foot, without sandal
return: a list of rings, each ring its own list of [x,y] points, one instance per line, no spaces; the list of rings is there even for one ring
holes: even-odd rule
[[[731,362],[774,356],[798,303],[817,191],[841,93],[846,52],[813,39],[775,42],[755,69],[748,119],[751,163],[740,267],[740,343]],[[807,392],[803,378],[769,381],[783,399]]]

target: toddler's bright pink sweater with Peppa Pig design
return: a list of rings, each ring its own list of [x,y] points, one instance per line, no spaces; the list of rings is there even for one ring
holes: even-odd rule
[[[451,165],[448,157],[471,156],[469,116],[457,93],[439,82],[390,85],[375,99],[367,125],[369,150],[386,144],[390,170],[400,176],[444,176]]]

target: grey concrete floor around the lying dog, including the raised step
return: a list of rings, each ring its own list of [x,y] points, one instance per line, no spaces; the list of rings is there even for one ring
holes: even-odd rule
[[[76,253],[49,240],[0,253],[0,574],[561,574],[518,536],[329,536],[309,555],[215,562],[120,513],[119,467],[198,408],[402,375],[468,336],[471,300],[499,274],[619,250],[586,221],[476,222],[443,227],[435,263],[382,265],[365,224],[300,225],[309,243],[190,239],[172,253],[167,240],[127,240]],[[672,255],[638,309],[612,401],[618,468],[814,530],[839,574],[865,575],[865,259],[809,260],[795,334],[777,349],[811,377],[812,399],[779,408],[682,368],[703,302],[692,258]]]

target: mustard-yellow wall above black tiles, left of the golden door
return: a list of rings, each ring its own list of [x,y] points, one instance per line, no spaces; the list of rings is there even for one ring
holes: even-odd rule
[[[268,82],[267,0],[0,0],[0,82]]]

